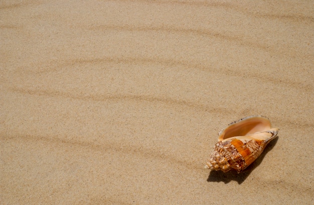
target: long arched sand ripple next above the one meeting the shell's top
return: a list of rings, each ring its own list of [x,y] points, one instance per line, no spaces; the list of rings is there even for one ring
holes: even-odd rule
[[[228,76],[236,76],[236,77],[243,77],[245,76],[246,78],[252,78],[255,79],[256,81],[262,83],[262,82],[267,82],[267,83],[272,83],[275,86],[283,85],[286,87],[294,87],[297,90],[312,90],[314,87],[310,82],[306,81],[296,81],[292,80],[290,78],[284,78],[283,76],[280,76],[278,79],[277,76],[273,76],[272,74],[265,75],[265,74],[260,74],[256,72],[246,72],[245,70],[239,70],[239,69],[231,69],[231,68],[224,68],[224,67],[208,67],[204,66],[201,63],[194,63],[194,62],[189,62],[189,61],[183,61],[183,60],[174,60],[174,59],[166,59],[166,58],[150,58],[150,57],[108,57],[104,56],[103,58],[86,58],[86,59],[69,59],[69,60],[52,60],[48,62],[42,62],[39,63],[40,70],[34,69],[33,67],[39,67],[38,65],[32,65],[32,69],[27,69],[27,67],[20,67],[16,69],[14,72],[23,72],[25,73],[26,69],[27,72],[31,73],[50,73],[54,72],[57,70],[60,70],[63,67],[67,66],[73,66],[77,64],[86,64],[86,63],[92,63],[92,64],[101,64],[101,63],[124,63],[124,64],[154,64],[154,65],[163,65],[166,67],[171,67],[173,66],[182,66],[184,69],[186,68],[195,68],[198,70],[206,71],[206,72],[211,72],[213,74],[221,73],[224,75]],[[43,65],[44,64],[44,65]],[[47,66],[45,66],[45,64]],[[49,69],[48,69],[49,68]]]

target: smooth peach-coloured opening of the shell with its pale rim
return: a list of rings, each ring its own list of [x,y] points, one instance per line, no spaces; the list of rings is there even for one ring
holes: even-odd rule
[[[250,116],[235,121],[220,131],[218,141],[230,137],[245,136],[256,132],[267,131],[269,129],[271,129],[271,124],[268,118],[263,116]]]

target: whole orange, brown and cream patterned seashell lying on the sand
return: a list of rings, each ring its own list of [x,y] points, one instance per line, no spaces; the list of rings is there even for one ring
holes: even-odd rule
[[[218,134],[218,143],[205,165],[207,169],[238,173],[249,166],[279,132],[268,118],[249,116],[229,124]]]

